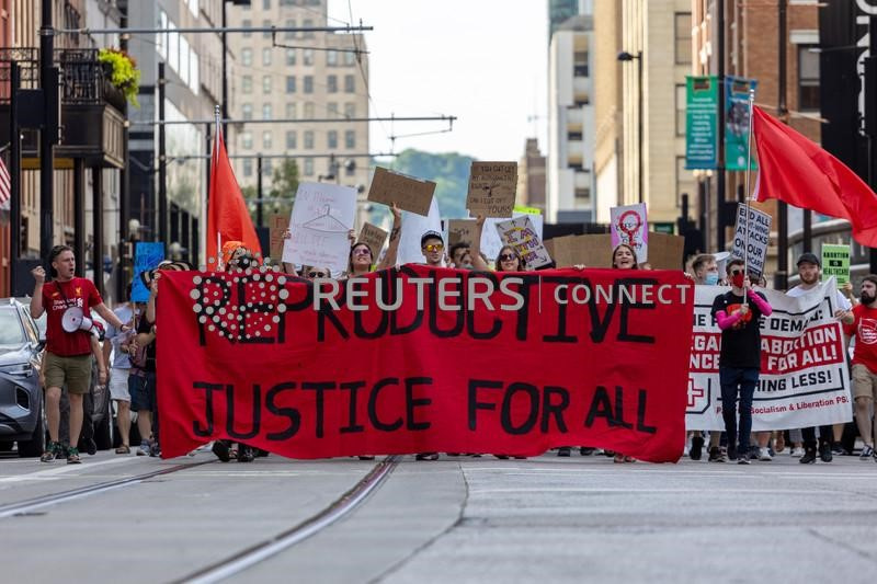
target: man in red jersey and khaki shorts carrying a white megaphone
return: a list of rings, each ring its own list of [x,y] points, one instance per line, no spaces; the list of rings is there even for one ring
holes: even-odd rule
[[[94,309],[104,320],[119,331],[128,329],[118,320],[112,310],[106,308],[94,284],[86,278],[76,277],[76,257],[68,245],[55,245],[49,252],[49,264],[54,279],[47,284],[46,271],[35,267],[34,295],[31,298],[31,316],[38,319],[46,312],[46,354],[43,357],[43,375],[45,378],[46,419],[50,443],[39,458],[43,462],[52,462],[62,456],[64,448],[58,442],[60,423],[61,388],[66,385],[70,398],[70,448],[67,450],[67,463],[79,463],[79,432],[82,430],[82,397],[91,386],[91,337],[88,331],[67,332],[61,324],[64,313],[72,308],[81,310],[81,314],[91,318]]]

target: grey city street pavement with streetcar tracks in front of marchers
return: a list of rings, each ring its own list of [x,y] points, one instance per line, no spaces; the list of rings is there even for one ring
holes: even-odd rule
[[[0,561],[8,582],[866,582],[875,480],[870,460],[788,450],[749,467],[5,458]]]

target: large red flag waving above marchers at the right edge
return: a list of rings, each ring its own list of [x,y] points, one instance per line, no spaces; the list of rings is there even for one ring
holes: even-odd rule
[[[877,248],[877,194],[843,162],[787,125],[755,107],[752,118],[759,150],[758,201],[789,205],[846,219],[853,238]]]

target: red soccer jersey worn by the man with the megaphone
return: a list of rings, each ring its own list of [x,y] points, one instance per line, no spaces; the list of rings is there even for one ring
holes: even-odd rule
[[[58,287],[60,286],[60,289]],[[43,285],[43,308],[46,310],[46,350],[60,357],[75,357],[91,353],[90,333],[76,331],[68,333],[61,325],[61,316],[68,307],[78,306],[82,313],[91,318],[93,306],[103,300],[94,283],[86,278],[70,282],[47,282]]]

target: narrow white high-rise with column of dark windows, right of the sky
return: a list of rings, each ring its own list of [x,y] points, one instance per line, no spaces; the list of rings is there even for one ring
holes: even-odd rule
[[[590,9],[590,3],[585,7]],[[594,220],[594,23],[584,13],[566,20],[548,50],[548,222]]]

